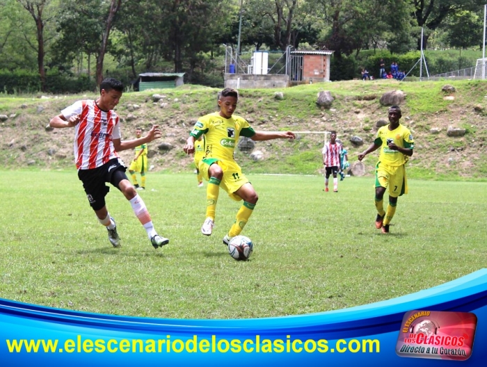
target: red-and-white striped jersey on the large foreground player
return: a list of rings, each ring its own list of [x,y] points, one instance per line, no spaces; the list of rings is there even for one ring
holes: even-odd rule
[[[74,160],[78,170],[104,165],[118,154],[113,139],[120,139],[119,119],[115,111],[102,111],[95,101],[77,101],[61,111],[69,119],[79,115],[74,132]]]

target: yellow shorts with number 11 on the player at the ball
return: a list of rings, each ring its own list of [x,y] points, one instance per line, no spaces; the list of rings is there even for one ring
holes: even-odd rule
[[[223,188],[236,202],[242,198],[239,195],[235,195],[234,192],[239,190],[242,186],[248,183],[247,177],[242,173],[240,166],[232,161],[222,161],[218,158],[204,158],[200,161],[200,173],[203,178],[209,181],[209,166],[212,164],[218,164],[223,170],[223,179],[221,179],[220,187]]]

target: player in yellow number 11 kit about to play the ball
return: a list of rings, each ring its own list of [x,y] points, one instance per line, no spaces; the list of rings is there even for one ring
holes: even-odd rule
[[[220,111],[200,117],[184,145],[184,152],[193,154],[195,140],[205,134],[205,157],[200,161],[199,167],[203,177],[208,181],[207,218],[201,227],[202,234],[210,236],[213,231],[220,187],[232,199],[244,200],[234,224],[223,237],[225,245],[228,245],[232,237],[239,235],[244,229],[259,199],[252,184],[233,158],[239,137],[246,136],[256,141],[296,138],[291,131],[280,133],[255,131],[244,118],[233,114],[237,108],[238,97],[237,90],[231,88],[222,90],[218,97]]]

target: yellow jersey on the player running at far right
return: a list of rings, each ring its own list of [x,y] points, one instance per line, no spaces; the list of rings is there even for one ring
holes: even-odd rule
[[[392,131],[389,130],[389,125],[386,125],[378,129],[374,140],[374,144],[381,145],[381,154],[378,156],[381,163],[394,166],[404,165],[409,157],[398,150],[389,149],[389,142],[394,142],[398,147],[413,149],[414,139],[411,132],[401,124]]]

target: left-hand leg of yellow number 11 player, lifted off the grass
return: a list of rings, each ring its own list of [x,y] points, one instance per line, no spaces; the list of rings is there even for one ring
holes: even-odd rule
[[[208,179],[206,219],[201,227],[201,233],[205,236],[211,235],[215,222],[216,203],[223,179],[223,168],[218,164],[219,162],[217,159],[203,159],[200,163],[200,170]]]

